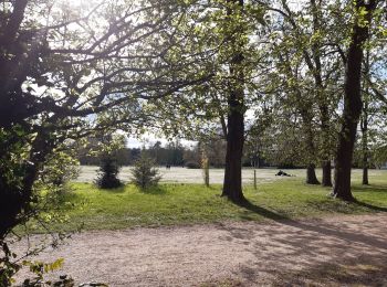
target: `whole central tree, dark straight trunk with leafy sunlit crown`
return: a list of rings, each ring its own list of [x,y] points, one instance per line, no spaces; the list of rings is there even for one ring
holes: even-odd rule
[[[195,63],[192,68],[207,81],[189,94],[171,96],[170,106],[154,108],[167,119],[163,129],[172,135],[178,130],[189,139],[200,139],[221,128],[227,141],[222,195],[242,202],[244,114],[247,99],[253,96],[249,92],[258,61],[257,43],[250,35],[264,22],[264,11],[242,0],[189,2],[178,22],[180,45],[174,56],[187,65]]]

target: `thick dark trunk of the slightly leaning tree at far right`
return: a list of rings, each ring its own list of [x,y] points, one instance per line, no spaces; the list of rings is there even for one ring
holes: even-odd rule
[[[375,0],[369,0],[368,4],[364,1],[356,2],[356,11],[367,10],[367,20],[370,22],[372,12],[376,7]],[[368,26],[354,24],[351,45],[347,53],[346,72],[345,72],[345,93],[344,93],[344,111],[342,128],[338,136],[335,164],[335,184],[333,195],[345,201],[353,201],[354,196],[351,191],[351,169],[356,139],[357,124],[362,114],[362,61],[363,44],[368,38]]]

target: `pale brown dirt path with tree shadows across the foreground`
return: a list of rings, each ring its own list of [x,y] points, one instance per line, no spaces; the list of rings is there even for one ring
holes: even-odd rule
[[[387,286],[387,215],[85,232],[57,257],[109,286]]]

